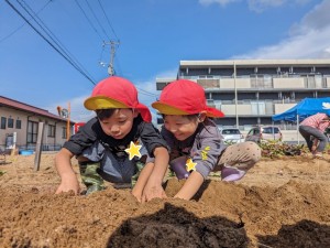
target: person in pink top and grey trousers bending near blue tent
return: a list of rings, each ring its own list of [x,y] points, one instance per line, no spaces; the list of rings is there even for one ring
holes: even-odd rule
[[[299,126],[299,132],[314,158],[323,158],[322,152],[328,143],[328,137],[323,132],[329,126],[330,117],[321,112],[307,117]]]

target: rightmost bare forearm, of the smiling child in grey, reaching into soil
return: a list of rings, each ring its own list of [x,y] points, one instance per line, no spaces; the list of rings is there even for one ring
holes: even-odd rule
[[[185,182],[184,186],[179,190],[179,192],[174,197],[190,200],[198,192],[202,182],[204,182],[202,175],[194,171]]]

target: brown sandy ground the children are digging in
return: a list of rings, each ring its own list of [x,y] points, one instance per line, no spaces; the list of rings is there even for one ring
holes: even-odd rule
[[[330,163],[263,159],[240,182],[212,177],[194,201],[140,204],[129,190],[54,195],[54,154],[0,165],[0,247],[330,247]],[[329,159],[329,155],[327,157]],[[74,161],[77,170],[77,163]]]

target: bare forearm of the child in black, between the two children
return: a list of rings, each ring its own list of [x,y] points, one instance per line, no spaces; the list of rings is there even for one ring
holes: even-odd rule
[[[164,147],[157,147],[154,150],[155,164],[142,193],[142,202],[153,198],[164,198],[166,194],[162,186],[164,175],[168,166],[168,151]]]

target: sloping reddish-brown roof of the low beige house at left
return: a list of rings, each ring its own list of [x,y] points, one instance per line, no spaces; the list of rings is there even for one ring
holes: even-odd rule
[[[67,121],[67,119],[62,118],[59,116],[56,116],[52,112],[48,112],[48,110],[42,109],[42,108],[37,108],[31,105],[26,105],[23,103],[20,103],[18,100],[13,100],[3,96],[0,96],[0,107],[8,107],[8,108],[13,108],[13,109],[18,109],[18,110],[22,110],[25,112],[31,112],[37,116],[43,116],[43,117],[47,117],[51,119],[56,119],[56,120],[61,120],[61,121]],[[70,121],[72,123],[75,123],[74,121]]]

